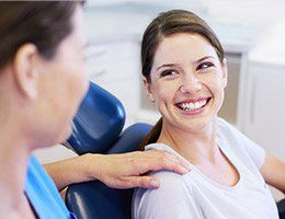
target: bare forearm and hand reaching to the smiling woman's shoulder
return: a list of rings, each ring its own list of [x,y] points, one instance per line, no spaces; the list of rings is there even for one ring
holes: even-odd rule
[[[116,188],[158,187],[157,178],[142,174],[162,169],[180,174],[190,171],[184,161],[157,150],[122,154],[87,153],[44,166],[59,191],[69,184],[91,180],[100,180]]]

